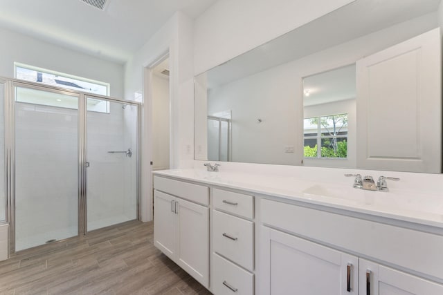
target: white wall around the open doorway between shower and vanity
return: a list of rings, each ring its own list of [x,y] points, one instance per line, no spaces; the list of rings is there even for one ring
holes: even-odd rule
[[[191,166],[194,159],[194,83],[192,19],[177,12],[125,65],[125,98],[143,92],[141,216],[152,220],[152,75],[147,67],[169,52],[171,99],[170,166]]]

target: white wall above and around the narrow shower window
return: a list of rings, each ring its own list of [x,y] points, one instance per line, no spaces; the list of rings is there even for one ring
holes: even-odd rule
[[[111,84],[111,96],[123,97],[123,65],[0,29],[0,76],[14,77],[14,62]]]

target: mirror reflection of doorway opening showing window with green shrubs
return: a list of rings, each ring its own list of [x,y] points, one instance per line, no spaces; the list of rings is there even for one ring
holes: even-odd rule
[[[303,79],[305,165],[355,166],[355,80],[355,64]]]

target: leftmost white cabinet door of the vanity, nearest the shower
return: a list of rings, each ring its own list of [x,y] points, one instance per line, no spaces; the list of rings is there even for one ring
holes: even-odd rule
[[[154,191],[154,245],[166,256],[175,259],[176,249],[176,214],[175,198]]]

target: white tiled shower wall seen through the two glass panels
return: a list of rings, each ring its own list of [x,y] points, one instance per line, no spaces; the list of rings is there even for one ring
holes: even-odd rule
[[[87,114],[88,221],[136,218],[136,107]],[[17,103],[17,240],[56,238],[78,224],[76,110]],[[132,134],[128,134],[131,132]],[[107,151],[134,150],[134,157]],[[32,227],[30,225],[33,225]],[[74,234],[75,235],[75,234]],[[0,247],[0,251],[2,251]]]

